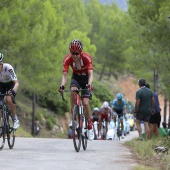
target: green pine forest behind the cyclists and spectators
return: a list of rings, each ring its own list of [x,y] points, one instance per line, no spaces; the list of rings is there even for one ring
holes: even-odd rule
[[[93,83],[92,107],[113,98],[100,84],[103,75],[108,81],[123,74],[144,77],[169,100],[169,0],[129,0],[127,11],[98,0],[0,0],[0,52],[5,62],[14,66],[26,95],[36,94],[40,105],[58,113],[68,110],[57,89],[73,39],[83,42],[99,75]]]

